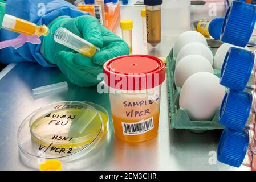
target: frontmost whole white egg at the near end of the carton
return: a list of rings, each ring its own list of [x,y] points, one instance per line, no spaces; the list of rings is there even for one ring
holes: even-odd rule
[[[180,107],[191,120],[210,121],[220,108],[225,88],[212,73],[194,73],[184,83],[180,93]]]

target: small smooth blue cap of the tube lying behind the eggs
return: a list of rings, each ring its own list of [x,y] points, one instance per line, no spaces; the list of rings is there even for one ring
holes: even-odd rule
[[[209,33],[216,40],[220,40],[221,38],[221,28],[224,23],[224,18],[215,18],[209,24]]]

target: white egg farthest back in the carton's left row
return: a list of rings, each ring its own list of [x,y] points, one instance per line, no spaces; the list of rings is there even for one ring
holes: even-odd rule
[[[176,40],[174,47],[173,47],[173,56],[177,57],[178,52],[180,52],[181,48],[188,43],[192,42],[201,42],[207,46],[207,42],[205,37],[197,31],[186,31],[183,32],[178,39]]]

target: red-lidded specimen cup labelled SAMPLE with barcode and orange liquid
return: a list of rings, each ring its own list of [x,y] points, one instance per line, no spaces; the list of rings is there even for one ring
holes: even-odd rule
[[[164,63],[153,56],[116,57],[103,66],[115,135],[129,142],[156,137]]]

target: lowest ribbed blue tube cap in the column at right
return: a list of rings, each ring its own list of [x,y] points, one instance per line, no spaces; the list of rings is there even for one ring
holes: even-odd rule
[[[218,161],[230,166],[239,167],[245,159],[249,143],[249,133],[225,128],[217,149]]]

